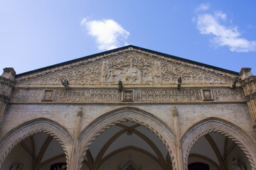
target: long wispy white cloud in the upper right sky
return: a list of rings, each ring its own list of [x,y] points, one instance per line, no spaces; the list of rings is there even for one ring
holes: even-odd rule
[[[228,46],[233,52],[255,52],[256,41],[241,38],[238,27],[226,27],[220,24],[227,18],[220,11],[214,14],[200,13],[196,18],[196,25],[201,34],[213,35],[211,42],[218,46]]]

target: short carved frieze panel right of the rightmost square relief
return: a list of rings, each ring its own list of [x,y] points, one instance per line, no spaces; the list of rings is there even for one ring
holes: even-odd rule
[[[213,89],[215,101],[245,101],[242,89]]]

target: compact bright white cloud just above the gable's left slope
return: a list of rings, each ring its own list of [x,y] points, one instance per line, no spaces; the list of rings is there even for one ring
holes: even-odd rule
[[[88,21],[87,18],[84,18],[81,25],[85,26],[88,34],[95,38],[99,50],[111,50],[127,45],[125,40],[127,40],[129,32],[112,19]]]

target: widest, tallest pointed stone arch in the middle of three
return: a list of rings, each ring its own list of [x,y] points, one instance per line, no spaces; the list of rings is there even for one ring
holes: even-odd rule
[[[138,123],[154,132],[159,139],[164,143],[166,149],[171,155],[171,162],[173,169],[176,170],[176,135],[163,121],[156,118],[156,116],[146,111],[142,111],[139,108],[124,107],[114,111],[110,111],[101,115],[88,125],[85,130],[82,130],[78,137],[79,143],[79,154],[78,154],[78,169],[82,167],[82,160],[86,154],[86,150],[89,145],[92,144],[93,140],[96,139],[101,132],[104,132],[116,123],[122,123],[124,121],[131,121]]]

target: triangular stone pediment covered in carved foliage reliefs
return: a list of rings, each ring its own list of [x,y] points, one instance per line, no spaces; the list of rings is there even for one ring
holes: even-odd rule
[[[129,45],[33,72],[18,74],[20,85],[131,86],[230,84],[238,73]]]

